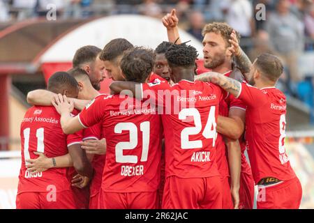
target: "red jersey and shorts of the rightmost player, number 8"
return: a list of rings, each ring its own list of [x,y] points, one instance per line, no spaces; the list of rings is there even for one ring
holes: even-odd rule
[[[275,87],[257,89],[242,83],[239,99],[247,105],[246,141],[259,184],[257,208],[299,208],[301,185],[285,153],[285,95]],[[265,185],[265,178],[280,181]]]

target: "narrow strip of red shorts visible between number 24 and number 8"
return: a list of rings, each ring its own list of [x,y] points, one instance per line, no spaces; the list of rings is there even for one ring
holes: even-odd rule
[[[254,179],[252,174],[241,172],[239,197],[239,209],[253,209]]]

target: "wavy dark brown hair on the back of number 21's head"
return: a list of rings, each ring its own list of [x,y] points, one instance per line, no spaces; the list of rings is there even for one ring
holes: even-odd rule
[[[135,47],[124,53],[120,66],[127,81],[144,83],[153,70],[154,60],[153,49]]]

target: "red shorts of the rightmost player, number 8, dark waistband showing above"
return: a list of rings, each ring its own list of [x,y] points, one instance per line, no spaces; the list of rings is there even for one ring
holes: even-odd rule
[[[258,185],[257,209],[298,209],[301,199],[302,187],[297,177],[274,185]]]

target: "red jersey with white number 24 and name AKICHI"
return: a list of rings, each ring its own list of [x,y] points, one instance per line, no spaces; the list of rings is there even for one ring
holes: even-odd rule
[[[215,142],[221,89],[214,84],[187,80],[172,87],[166,83],[142,84],[144,97],[151,92],[158,99],[156,104],[164,109],[166,177],[219,176]]]

